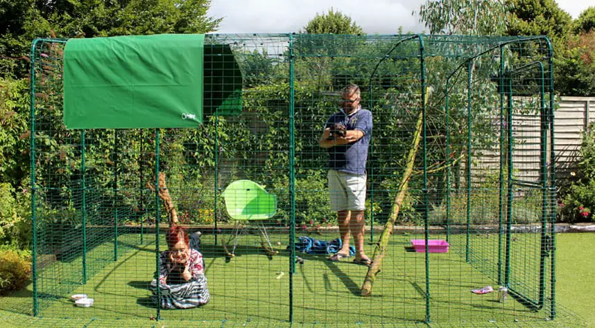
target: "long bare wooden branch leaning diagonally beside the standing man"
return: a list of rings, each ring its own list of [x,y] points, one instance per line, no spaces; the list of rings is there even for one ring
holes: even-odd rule
[[[424,99],[424,102],[427,102],[429,93],[431,93],[431,89],[426,89],[426,98]],[[369,296],[372,293],[372,285],[376,280],[376,276],[381,271],[382,259],[384,258],[384,255],[386,255],[386,246],[388,246],[390,235],[393,234],[395,221],[397,221],[399,210],[401,210],[401,206],[407,194],[409,179],[413,175],[413,164],[415,163],[415,156],[417,156],[417,149],[420,147],[420,140],[422,138],[423,121],[424,112],[420,111],[420,114],[417,116],[417,123],[415,124],[413,143],[411,145],[411,149],[409,149],[409,154],[407,155],[405,171],[403,172],[401,183],[399,183],[399,192],[397,193],[395,201],[393,202],[393,208],[390,210],[388,221],[384,225],[384,229],[382,230],[380,238],[376,244],[376,247],[374,248],[372,264],[370,264],[370,267],[368,267],[368,273],[365,275],[363,285],[361,286],[362,296]]]

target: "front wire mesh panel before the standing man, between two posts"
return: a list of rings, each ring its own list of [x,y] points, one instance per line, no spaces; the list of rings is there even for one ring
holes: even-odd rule
[[[406,167],[416,118],[422,112],[419,39],[297,35],[294,47],[296,89],[308,91],[305,95],[297,92],[295,95],[296,140],[303,145],[295,165],[296,224],[300,227],[297,234],[325,242],[341,236],[349,238],[347,242],[353,248],[351,252],[346,246],[337,248],[339,254],[348,255],[338,262],[329,261],[329,255],[325,254],[305,255],[308,262],[298,266],[295,277],[295,320],[322,321],[321,313],[330,312],[332,322],[343,324],[422,322],[426,313],[424,258],[403,256],[407,241],[401,236],[395,236],[387,247],[386,253],[390,255],[384,259],[383,279],[374,286],[374,296],[361,297],[367,266],[356,265],[354,260],[372,258],[370,241],[374,237],[372,232],[365,233],[361,241],[364,252],[360,255],[354,235],[358,229],[354,226],[354,213],[363,208],[352,203],[351,195],[357,194],[357,190],[365,192],[368,187],[363,204],[368,224],[372,217],[377,225],[386,221],[399,191],[402,176],[399,172]],[[352,107],[344,101],[350,99],[352,91],[343,91],[348,84],[359,86],[356,99],[361,109],[355,108],[353,113],[345,113]],[[365,110],[372,113],[370,131],[361,122],[366,119],[362,115]],[[371,137],[367,179],[365,152],[350,154],[352,158],[347,160],[343,145],[320,147],[319,140],[325,138],[323,130],[334,129],[331,123],[336,121],[345,122],[348,130],[359,129]],[[363,140],[365,136],[356,143]],[[340,182],[331,183],[334,180]],[[347,193],[350,196],[345,196]],[[412,191],[410,197],[416,196],[419,191]],[[332,197],[336,200],[331,200]],[[331,206],[339,207],[333,210]],[[345,213],[345,210],[353,211]],[[350,215],[344,226],[340,215]],[[413,228],[411,235],[416,232],[422,230]],[[345,243],[342,239],[342,244]]]

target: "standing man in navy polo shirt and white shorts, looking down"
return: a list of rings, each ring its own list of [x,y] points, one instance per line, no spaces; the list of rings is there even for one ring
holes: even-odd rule
[[[337,212],[339,233],[343,240],[340,250],[329,261],[350,257],[350,234],[355,242],[354,263],[369,266],[370,258],[363,250],[365,210],[365,163],[372,134],[372,113],[361,108],[359,86],[345,86],[340,111],[325,125],[320,147],[329,151],[329,196],[331,210]]]

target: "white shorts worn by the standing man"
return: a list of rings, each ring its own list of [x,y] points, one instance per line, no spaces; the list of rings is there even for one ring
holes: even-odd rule
[[[365,174],[329,170],[331,210],[365,210]]]

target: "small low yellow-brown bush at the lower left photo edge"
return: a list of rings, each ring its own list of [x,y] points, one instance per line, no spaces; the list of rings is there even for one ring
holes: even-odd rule
[[[0,295],[28,284],[31,256],[15,250],[0,250]]]

